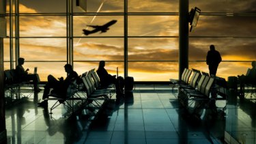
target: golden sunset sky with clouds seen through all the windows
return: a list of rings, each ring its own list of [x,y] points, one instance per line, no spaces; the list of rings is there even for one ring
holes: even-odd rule
[[[174,12],[178,14],[178,0],[128,0],[128,12]],[[246,73],[251,62],[256,60],[256,0],[195,0],[189,8],[197,6],[201,16],[195,31],[189,33],[189,68],[208,72],[205,57],[210,44],[216,46],[223,62],[217,75],[227,78]],[[7,8],[9,12],[9,6]],[[65,13],[64,0],[20,0],[20,13]],[[74,12],[82,12],[76,8]],[[124,12],[124,1],[87,0],[87,12]],[[216,13],[234,13],[222,16]],[[210,14],[210,15],[207,15]],[[243,14],[243,15],[242,15]],[[87,25],[104,25],[117,20],[106,33],[91,36],[124,36],[124,16],[74,16],[74,61],[124,61],[124,38],[86,38],[82,29],[91,30]],[[9,18],[7,18],[9,20]],[[128,38],[128,75],[135,81],[169,81],[178,76],[179,43],[178,16],[128,16],[128,36],[173,36],[174,38]],[[9,32],[8,23],[8,35]],[[63,65],[66,62],[66,16],[20,16],[20,57],[24,57],[24,67],[33,72],[38,67],[41,81],[48,74],[66,76]],[[26,37],[26,38],[22,38]],[[79,38],[76,38],[79,37]],[[83,37],[83,38],[80,38]],[[201,38],[205,37],[205,38]],[[223,38],[230,37],[230,38]],[[4,59],[10,60],[10,41],[4,40]],[[149,62],[145,62],[149,61]],[[174,62],[173,62],[174,61]],[[202,62],[194,62],[202,61]],[[106,62],[106,69],[115,74],[124,74],[124,62]],[[98,62],[74,62],[74,70],[79,74],[98,68]],[[5,69],[10,64],[5,63]]]

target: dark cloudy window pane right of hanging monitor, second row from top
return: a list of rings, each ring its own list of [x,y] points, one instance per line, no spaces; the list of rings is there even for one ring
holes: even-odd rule
[[[255,16],[200,16],[190,36],[256,36]]]

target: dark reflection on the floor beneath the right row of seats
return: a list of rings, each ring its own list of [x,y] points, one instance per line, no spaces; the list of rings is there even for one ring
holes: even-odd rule
[[[190,134],[197,136],[197,132],[202,132],[208,143],[218,143],[216,139],[224,141],[225,117],[223,111],[216,108],[215,101],[190,100],[182,92],[177,94],[177,98],[179,100],[178,121],[181,128],[179,132],[182,137],[189,139]],[[182,143],[188,143],[188,141],[182,140]]]

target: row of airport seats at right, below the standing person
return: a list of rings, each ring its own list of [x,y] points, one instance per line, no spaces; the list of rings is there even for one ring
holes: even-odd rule
[[[206,72],[199,70],[184,69],[180,80],[170,79],[171,83],[185,94],[180,98],[184,105],[190,106],[197,100],[204,101],[205,106],[210,106],[210,102],[225,100],[227,104],[227,81],[225,78],[210,76]],[[225,110],[223,106],[223,111]]]

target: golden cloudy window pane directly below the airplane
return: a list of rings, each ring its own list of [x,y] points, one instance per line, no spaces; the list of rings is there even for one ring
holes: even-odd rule
[[[124,61],[123,38],[76,38],[74,61]]]

